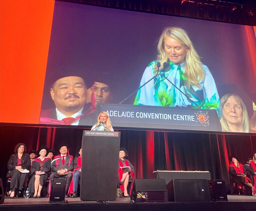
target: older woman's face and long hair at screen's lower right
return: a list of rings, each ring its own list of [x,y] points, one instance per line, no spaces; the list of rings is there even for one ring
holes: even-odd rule
[[[237,94],[225,94],[220,100],[223,132],[250,132],[250,119],[246,105]]]

